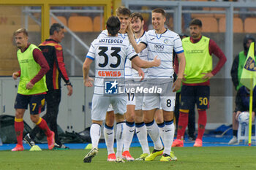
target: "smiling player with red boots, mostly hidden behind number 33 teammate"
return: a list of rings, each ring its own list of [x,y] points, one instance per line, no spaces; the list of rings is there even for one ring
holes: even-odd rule
[[[116,16],[118,17],[118,19],[121,22],[121,26],[120,26],[120,30],[118,31],[118,37],[120,37],[121,39],[125,39],[125,40],[129,40],[128,35],[126,33],[127,31],[127,26],[129,26],[129,17],[131,15],[131,12],[129,9],[127,9],[126,7],[118,7],[116,9]],[[103,38],[105,36],[108,36],[108,31],[107,30],[103,30],[101,34],[99,34],[99,36],[97,37],[97,39],[99,38]],[[141,77],[144,77],[144,73],[143,71],[138,67],[135,66],[135,64],[131,64],[131,61],[127,60],[125,63],[125,79],[126,80],[132,80],[132,67],[134,69],[138,70],[138,74]],[[131,83],[129,81],[129,83]],[[127,83],[128,84],[128,83]],[[134,94],[127,94],[127,112],[126,112],[126,118],[127,115],[135,115],[135,96]],[[105,119],[105,125],[104,125],[104,138],[105,138],[105,142],[107,145],[107,149],[108,149],[108,161],[116,161],[116,155],[114,152],[114,129],[113,129],[113,125],[114,125],[114,121],[115,121],[115,115],[113,112],[113,108],[110,104],[110,107],[108,109],[107,115],[106,115],[106,119]],[[134,158],[132,158],[132,155],[130,155],[129,153],[129,143],[132,140],[132,136],[134,134],[135,131],[135,123],[133,121],[133,123],[130,123],[129,121],[125,121],[125,122],[119,122],[116,123],[116,126],[119,129],[124,129],[124,131],[116,131],[116,143],[119,142],[124,142],[124,152],[122,153],[122,156],[125,160],[127,161],[134,161]],[[125,139],[120,139],[118,138],[118,136],[120,136],[120,133],[124,133],[124,138]],[[117,144],[118,146],[121,146],[120,144]],[[121,146],[121,148],[116,148],[116,150],[122,150],[123,146]]]

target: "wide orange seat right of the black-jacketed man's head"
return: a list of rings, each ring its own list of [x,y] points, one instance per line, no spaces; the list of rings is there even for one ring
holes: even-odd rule
[[[75,32],[93,31],[92,20],[87,16],[71,16],[68,20],[68,26],[71,31]]]

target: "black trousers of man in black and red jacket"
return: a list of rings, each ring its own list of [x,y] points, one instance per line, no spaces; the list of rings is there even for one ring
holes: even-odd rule
[[[59,113],[59,104],[61,102],[61,90],[50,90],[45,96],[46,101],[46,113],[42,118],[48,123],[51,131],[55,133],[55,142],[56,144],[61,144],[59,140],[59,134],[57,129],[57,118]],[[41,129],[36,126],[32,129],[30,136],[31,139],[39,133]]]

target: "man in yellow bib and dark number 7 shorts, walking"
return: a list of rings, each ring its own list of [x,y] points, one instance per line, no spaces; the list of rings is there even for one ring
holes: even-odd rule
[[[18,47],[17,58],[20,64],[20,71],[14,72],[12,78],[20,77],[18,93],[15,99],[15,134],[18,144],[12,151],[22,151],[23,148],[23,115],[30,109],[30,118],[33,123],[39,126],[48,140],[48,148],[54,147],[54,132],[50,131],[44,119],[39,113],[45,110],[45,94],[48,91],[45,74],[50,69],[41,50],[36,45],[28,42],[29,35],[25,28],[20,28],[14,33],[15,43]]]

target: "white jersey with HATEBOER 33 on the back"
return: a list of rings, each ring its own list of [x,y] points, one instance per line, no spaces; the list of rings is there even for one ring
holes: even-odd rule
[[[132,45],[119,36],[94,39],[86,55],[95,61],[94,94],[105,94],[106,81],[124,82],[124,64],[136,56]]]

